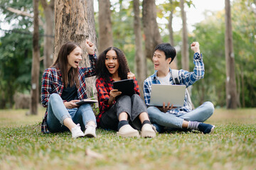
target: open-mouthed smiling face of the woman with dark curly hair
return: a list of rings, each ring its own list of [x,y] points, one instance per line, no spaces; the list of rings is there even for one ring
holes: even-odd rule
[[[114,50],[109,50],[106,54],[105,66],[112,75],[118,75],[119,62],[117,53]]]

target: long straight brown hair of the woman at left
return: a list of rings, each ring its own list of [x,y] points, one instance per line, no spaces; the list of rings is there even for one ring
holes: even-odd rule
[[[77,88],[79,88],[80,86],[78,80],[79,69],[71,67],[68,71],[68,55],[70,55],[70,53],[76,47],[80,47],[80,45],[78,45],[78,43],[75,42],[66,42],[63,46],[60,47],[60,52],[58,53],[57,60],[52,65],[52,67],[60,69],[63,84],[65,87],[68,86],[68,83],[70,84],[70,87],[74,84]]]

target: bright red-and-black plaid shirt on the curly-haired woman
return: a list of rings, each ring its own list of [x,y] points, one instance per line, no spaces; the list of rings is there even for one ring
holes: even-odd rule
[[[99,78],[96,80],[97,98],[99,102],[100,113],[97,115],[97,123],[100,123],[100,118],[112,105],[108,104],[110,98],[110,91],[113,89],[114,80],[110,77],[110,81],[107,79]],[[139,85],[137,79],[134,77],[134,91],[139,95]]]

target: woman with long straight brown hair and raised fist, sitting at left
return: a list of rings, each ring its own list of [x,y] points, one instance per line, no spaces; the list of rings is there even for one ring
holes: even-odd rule
[[[85,78],[95,76],[97,57],[94,44],[86,40],[85,47],[91,67],[78,67],[82,49],[75,42],[66,42],[53,66],[43,72],[41,100],[47,109],[41,125],[42,132],[70,130],[73,138],[96,137],[96,118],[90,104],[75,104],[87,98]],[[85,133],[81,128],[86,129]]]

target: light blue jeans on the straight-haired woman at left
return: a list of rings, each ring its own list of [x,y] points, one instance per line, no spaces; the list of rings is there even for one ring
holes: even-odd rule
[[[94,121],[95,114],[89,103],[81,105],[79,108],[66,108],[63,99],[58,94],[51,94],[48,101],[47,127],[50,132],[63,132],[68,128],[63,125],[65,118],[71,118],[75,124],[80,124],[85,130],[85,125]]]

